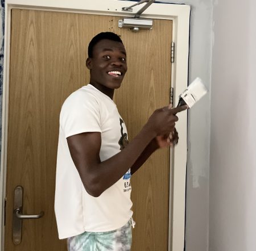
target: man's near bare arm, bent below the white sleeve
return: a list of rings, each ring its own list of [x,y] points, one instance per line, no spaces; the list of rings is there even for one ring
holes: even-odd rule
[[[92,196],[100,196],[117,182],[135,164],[156,136],[166,135],[174,129],[177,121],[175,114],[186,108],[178,107],[168,110],[164,107],[156,110],[126,148],[102,162],[100,160],[101,133],[86,132],[68,137],[69,151],[86,191]]]

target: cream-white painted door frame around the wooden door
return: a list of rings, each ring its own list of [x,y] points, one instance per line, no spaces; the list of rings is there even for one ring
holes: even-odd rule
[[[130,1],[117,0],[6,0],[5,2],[5,51],[3,68],[3,104],[2,104],[2,152],[0,169],[0,248],[4,250],[5,196],[7,173],[7,130],[9,114],[9,75],[10,75],[10,37],[11,10],[30,9],[60,12],[74,12],[96,15],[134,16],[141,6],[133,12],[122,11],[122,7],[132,5]],[[179,94],[188,85],[189,56],[189,5],[153,3],[141,15],[142,18],[168,19],[173,21],[172,41],[175,43],[175,61],[172,63],[171,83],[174,87],[174,104]],[[154,27],[153,27],[154,28]],[[171,49],[171,44],[170,44]],[[179,115],[176,125],[179,132],[179,144],[170,150],[170,207],[168,250],[184,250],[185,233],[185,185],[187,165],[187,112]],[[173,168],[172,168],[173,167]]]

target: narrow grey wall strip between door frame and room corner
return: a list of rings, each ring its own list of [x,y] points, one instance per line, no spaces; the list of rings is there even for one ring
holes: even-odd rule
[[[210,89],[212,0],[162,2],[191,5],[189,82],[201,77]],[[208,250],[209,148],[210,95],[208,94],[188,113],[186,251]]]

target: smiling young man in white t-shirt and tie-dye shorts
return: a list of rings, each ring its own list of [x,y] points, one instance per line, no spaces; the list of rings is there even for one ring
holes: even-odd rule
[[[177,141],[177,112],[156,110],[131,143],[113,102],[127,70],[122,40],[93,37],[86,66],[90,83],[72,93],[60,113],[55,213],[68,249],[130,250],[130,176],[158,148]],[[169,136],[170,135],[170,136]],[[126,188],[126,189],[125,189]]]

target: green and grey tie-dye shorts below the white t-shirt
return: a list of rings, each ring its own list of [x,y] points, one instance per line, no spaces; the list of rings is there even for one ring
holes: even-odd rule
[[[68,238],[68,251],[130,251],[131,249],[130,219],[123,227],[109,232],[84,232]]]

